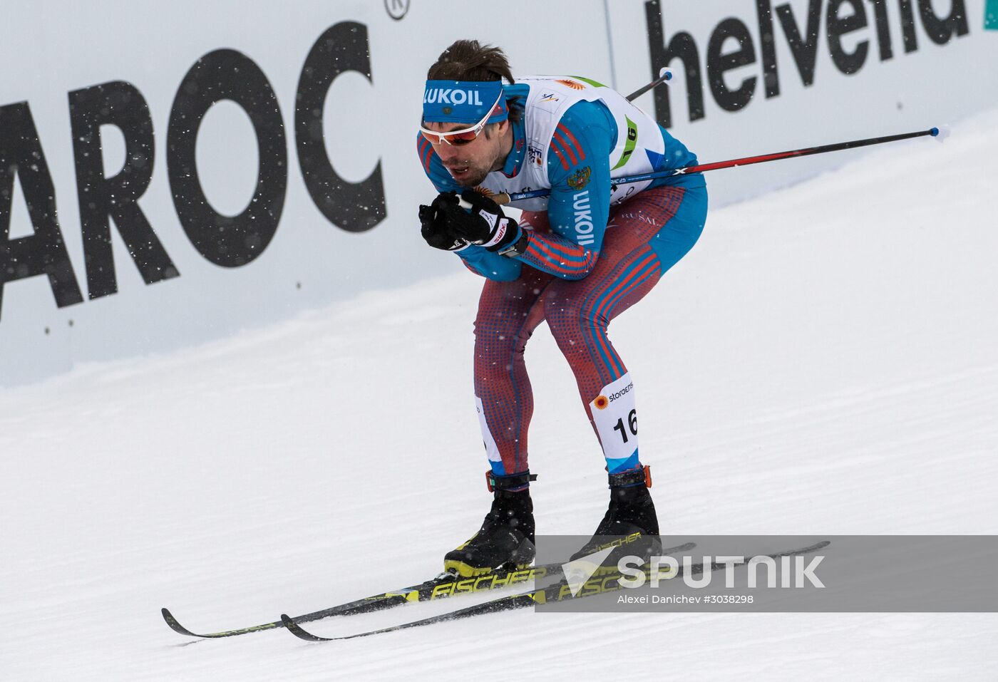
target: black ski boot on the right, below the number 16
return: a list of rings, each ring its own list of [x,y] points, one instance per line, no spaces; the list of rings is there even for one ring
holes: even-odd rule
[[[572,554],[572,558],[615,544],[619,545],[621,551],[611,552],[604,559],[603,565],[616,567],[618,556],[635,554],[648,558],[660,552],[662,541],[659,539],[659,517],[648,492],[652,487],[651,469],[642,467],[610,474],[609,479],[610,507],[592,539]]]

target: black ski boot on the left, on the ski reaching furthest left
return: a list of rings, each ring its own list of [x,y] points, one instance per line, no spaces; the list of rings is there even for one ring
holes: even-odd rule
[[[486,473],[495,494],[492,509],[471,538],[443,557],[445,572],[470,577],[493,570],[525,568],[534,560],[534,504],[530,489],[512,492],[536,479],[530,472],[496,477]]]

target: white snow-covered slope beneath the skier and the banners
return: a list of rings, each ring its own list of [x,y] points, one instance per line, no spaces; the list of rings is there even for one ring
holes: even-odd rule
[[[998,532],[996,181],[992,111],[711,214],[611,329],[664,532]],[[520,611],[323,645],[172,632],[161,606],[225,629],[424,579],[477,527],[478,290],[462,269],[0,391],[0,678],[998,678],[998,614]],[[538,530],[590,532],[603,460],[543,328],[527,363]]]

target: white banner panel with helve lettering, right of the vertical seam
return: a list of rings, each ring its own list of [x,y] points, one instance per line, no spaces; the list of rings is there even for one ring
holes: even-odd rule
[[[701,163],[927,130],[998,103],[998,31],[985,30],[983,0],[615,0],[610,6],[618,89],[637,89],[671,68],[669,86],[638,103]],[[712,204],[866,153],[712,172]]]

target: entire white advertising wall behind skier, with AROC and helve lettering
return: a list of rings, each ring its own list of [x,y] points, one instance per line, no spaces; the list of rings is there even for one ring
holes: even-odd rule
[[[423,81],[457,38],[625,93],[668,65],[639,104],[708,162],[998,102],[984,21],[983,0],[5,3],[0,386],[463,269],[416,219]],[[712,199],[853,154],[718,171]]]

